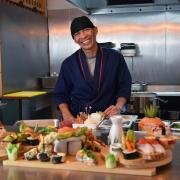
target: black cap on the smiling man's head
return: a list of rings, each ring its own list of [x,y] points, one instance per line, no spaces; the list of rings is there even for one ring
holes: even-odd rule
[[[85,28],[94,28],[94,24],[87,16],[74,18],[71,23],[71,35],[74,39],[74,34]]]

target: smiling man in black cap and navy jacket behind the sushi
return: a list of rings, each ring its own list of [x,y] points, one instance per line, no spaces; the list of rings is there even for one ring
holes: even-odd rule
[[[123,56],[101,48],[98,29],[86,16],[71,23],[71,35],[80,49],[62,63],[55,87],[55,100],[64,120],[79,112],[119,114],[131,95],[131,75]]]

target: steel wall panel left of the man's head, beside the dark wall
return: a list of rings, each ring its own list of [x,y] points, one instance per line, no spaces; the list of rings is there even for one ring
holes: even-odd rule
[[[48,12],[50,72],[59,73],[62,61],[79,47],[70,33],[73,17],[83,15],[76,9],[54,10]]]

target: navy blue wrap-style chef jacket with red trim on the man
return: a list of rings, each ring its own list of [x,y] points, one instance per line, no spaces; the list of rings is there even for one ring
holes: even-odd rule
[[[104,111],[118,97],[131,96],[131,75],[124,57],[116,50],[98,47],[94,78],[91,78],[86,56],[79,49],[62,63],[55,87],[55,101],[69,104],[73,115]]]

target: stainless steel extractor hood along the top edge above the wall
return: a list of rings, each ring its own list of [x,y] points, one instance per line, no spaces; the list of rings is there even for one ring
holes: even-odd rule
[[[87,14],[179,10],[180,0],[66,0]]]

